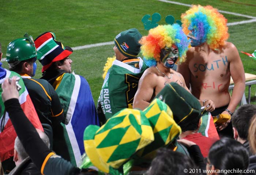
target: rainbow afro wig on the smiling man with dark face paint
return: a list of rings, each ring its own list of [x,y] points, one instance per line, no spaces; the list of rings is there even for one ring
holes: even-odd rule
[[[146,65],[151,67],[160,61],[161,49],[176,45],[179,52],[179,62],[185,61],[189,40],[178,24],[159,25],[150,29],[147,36],[142,37],[139,42],[140,50]]]

